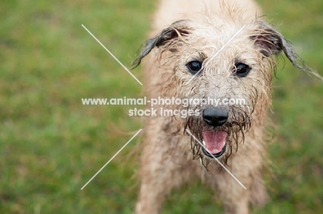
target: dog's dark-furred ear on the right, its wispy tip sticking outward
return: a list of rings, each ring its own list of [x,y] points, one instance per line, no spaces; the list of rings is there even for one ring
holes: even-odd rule
[[[294,48],[280,32],[275,30],[265,21],[257,20],[257,25],[258,28],[255,30],[255,34],[251,35],[251,39],[255,41],[255,46],[261,49],[260,52],[262,55],[271,57],[272,55],[280,54],[283,51],[295,68],[323,80],[323,77],[317,74],[315,70],[306,66],[304,60],[297,55],[297,52],[295,52]]]

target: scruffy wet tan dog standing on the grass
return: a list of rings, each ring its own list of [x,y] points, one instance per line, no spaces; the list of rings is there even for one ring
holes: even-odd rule
[[[161,1],[154,37],[134,66],[145,57],[148,98],[201,102],[154,106],[186,110],[184,118],[146,118],[137,214],[160,213],[170,190],[195,178],[219,195],[225,213],[249,213],[249,204],[266,202],[261,171],[273,56],[284,53],[295,68],[316,73],[260,14],[249,0]]]

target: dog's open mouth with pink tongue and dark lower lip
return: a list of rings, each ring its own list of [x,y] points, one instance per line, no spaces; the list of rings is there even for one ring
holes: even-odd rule
[[[202,131],[204,155],[213,158],[220,157],[226,151],[226,138],[228,133],[224,130],[204,130]]]

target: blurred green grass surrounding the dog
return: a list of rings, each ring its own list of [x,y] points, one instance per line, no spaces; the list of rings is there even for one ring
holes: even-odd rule
[[[323,75],[323,1],[258,1],[296,50]],[[129,106],[83,106],[85,97],[140,97],[141,87],[84,24],[130,68],[155,1],[0,1],[0,213],[132,213],[138,186]],[[273,80],[271,195],[254,213],[323,212],[323,83],[280,60]],[[284,70],[282,68],[284,67]],[[142,79],[140,69],[133,70]],[[193,182],[163,213],[222,213]]]

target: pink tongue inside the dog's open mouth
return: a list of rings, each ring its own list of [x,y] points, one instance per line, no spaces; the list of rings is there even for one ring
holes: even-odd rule
[[[206,130],[202,132],[202,137],[206,142],[206,150],[211,154],[217,154],[224,147],[228,133],[222,130]]]

